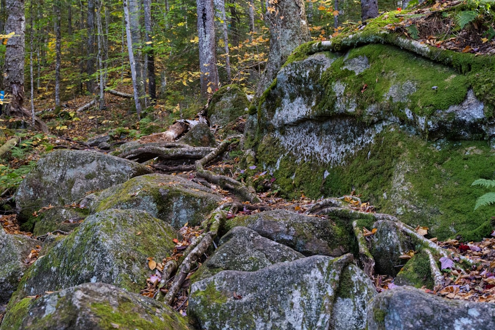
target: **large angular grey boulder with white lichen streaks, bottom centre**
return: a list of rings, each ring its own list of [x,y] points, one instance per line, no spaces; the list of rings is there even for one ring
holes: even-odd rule
[[[366,303],[375,294],[352,255],[311,256],[193,283],[188,311],[209,330],[358,330],[366,328]]]

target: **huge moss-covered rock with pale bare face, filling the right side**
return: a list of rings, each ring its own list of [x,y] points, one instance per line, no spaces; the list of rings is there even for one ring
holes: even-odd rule
[[[461,73],[395,46],[353,47],[372,40],[356,37],[344,52],[295,52],[249,111],[245,146],[256,151],[258,169],[273,172],[272,189],[291,197],[354,188],[377,210],[439,239],[490,234],[489,210],[472,213],[486,191],[471,187],[491,179],[486,165],[495,164],[487,143],[493,104],[480,92],[493,79],[476,78],[484,59],[457,53],[452,64],[474,61]]]

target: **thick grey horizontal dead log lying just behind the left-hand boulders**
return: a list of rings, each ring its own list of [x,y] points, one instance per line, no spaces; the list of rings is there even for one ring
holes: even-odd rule
[[[123,152],[119,155],[121,158],[135,160],[139,163],[144,163],[150,159],[159,157],[164,160],[180,160],[183,164],[187,160],[194,161],[196,159],[201,159],[212,151],[211,147],[179,147],[179,148],[168,148],[161,147],[155,144],[143,144],[141,147],[133,150]]]

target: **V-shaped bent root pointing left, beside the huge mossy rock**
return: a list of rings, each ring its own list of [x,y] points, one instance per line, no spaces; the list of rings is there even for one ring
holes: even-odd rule
[[[232,190],[244,200],[248,200],[251,203],[259,203],[260,199],[258,198],[258,196],[256,196],[255,193],[249,191],[249,189],[247,189],[244,184],[227,176],[218,175],[203,168],[203,166],[206,165],[208,162],[212,161],[213,159],[224,153],[225,150],[227,150],[227,147],[232,143],[232,140],[239,138],[240,136],[234,136],[231,137],[230,140],[223,141],[205,157],[197,160],[195,162],[196,174],[198,177],[206,179],[210,183],[219,185],[222,189]]]

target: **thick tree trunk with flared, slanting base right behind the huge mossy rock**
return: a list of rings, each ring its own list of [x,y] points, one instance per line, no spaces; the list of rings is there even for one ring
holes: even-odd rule
[[[267,6],[265,17],[270,28],[270,51],[255,97],[263,94],[292,51],[310,40],[303,0],[273,2]]]

